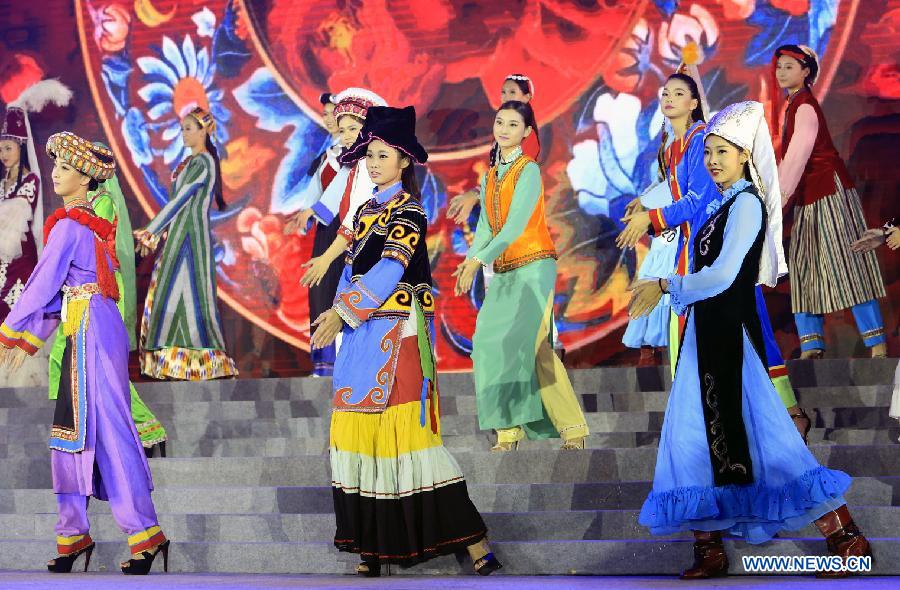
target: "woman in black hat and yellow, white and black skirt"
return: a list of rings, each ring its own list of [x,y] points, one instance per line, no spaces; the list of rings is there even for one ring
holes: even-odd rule
[[[313,322],[314,348],[343,331],[331,418],[334,544],[360,554],[361,575],[463,549],[488,575],[500,562],[441,440],[428,220],[414,170],[428,154],[415,126],[412,107],[370,107],[341,156],[344,165],[365,158],[375,193],[353,217],[334,306]]]

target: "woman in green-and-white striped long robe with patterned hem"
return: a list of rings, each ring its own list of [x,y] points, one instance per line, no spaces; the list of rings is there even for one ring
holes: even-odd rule
[[[153,266],[141,319],[141,372],[156,379],[199,381],[237,375],[225,351],[216,304],[209,209],[225,208],[216,123],[201,108],[182,122],[191,156],[174,173],[172,197],[150,224],[134,232],[142,255],[165,245]]]

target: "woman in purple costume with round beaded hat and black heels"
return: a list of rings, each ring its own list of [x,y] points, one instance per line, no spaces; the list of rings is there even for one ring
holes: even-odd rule
[[[52,135],[53,187],[65,208],[44,225],[44,252],[25,290],[0,325],[0,366],[34,354],[61,326],[66,344],[50,430],[50,465],[59,512],[59,556],[47,564],[67,573],[90,563],[88,501],[109,502],[128,535],[126,574],[146,574],[169,542],[159,527],[153,480],[131,419],[128,334],[116,301],[115,228],[94,214],[87,195],[115,171],[112,152],[69,132]]]

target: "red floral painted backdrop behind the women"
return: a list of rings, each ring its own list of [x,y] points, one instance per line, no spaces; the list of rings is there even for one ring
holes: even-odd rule
[[[857,49],[853,23],[866,10],[860,0],[74,0],[72,17],[100,127],[147,216],[165,204],[170,173],[187,155],[179,116],[197,104],[215,116],[229,201],[213,213],[220,296],[301,349],[309,318],[297,281],[312,240],[285,237],[282,228],[286,214],[315,198],[306,170],[328,140],[318,96],[365,86],[392,105],[414,105],[432,156],[419,174],[431,221],[439,364],[460,370],[469,367],[483,289],[452,296],[450,273],[474,227],[454,225],[445,210],[485,171],[492,109],[507,74],[535,83],[560,254],[561,338],[574,358],[593,363],[613,354],[610,339],[627,321],[625,288],[645,248],[623,253],[614,237],[624,205],[655,174],[657,94],[683,48],[703,49],[713,111],[767,101],[772,51],[787,42],[821,56],[816,92],[826,99],[845,55]],[[896,32],[900,7],[881,19]],[[27,74],[26,58],[16,57]],[[900,98],[896,65],[870,60],[857,86]],[[0,99],[14,92],[11,83]]]

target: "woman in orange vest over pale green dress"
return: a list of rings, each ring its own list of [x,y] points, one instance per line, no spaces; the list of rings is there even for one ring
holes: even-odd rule
[[[581,449],[588,435],[551,346],[556,249],[544,215],[540,167],[522,151],[523,140],[536,131],[531,106],[500,106],[494,119],[499,154],[482,180],[475,240],[453,273],[461,295],[479,268],[494,266],[475,324],[472,362],[478,422],[497,431],[495,451],[511,451],[526,436],[562,437],[564,449]]]

